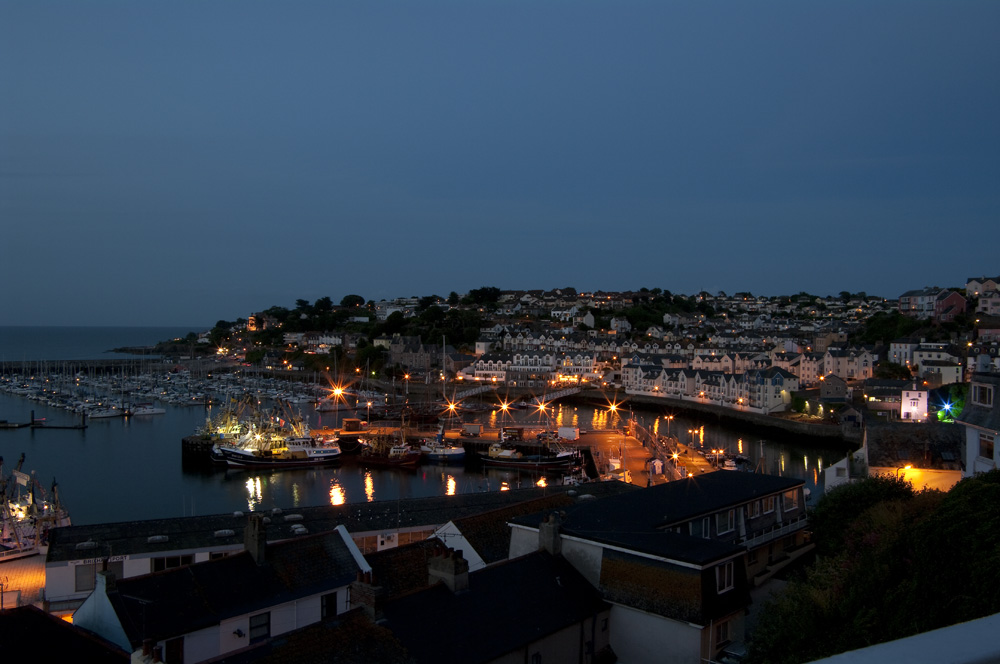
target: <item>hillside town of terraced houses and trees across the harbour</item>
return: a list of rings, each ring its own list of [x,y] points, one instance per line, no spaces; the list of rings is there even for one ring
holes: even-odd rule
[[[933,390],[1000,370],[998,280],[969,278],[964,288],[893,300],[489,287],[464,297],[348,296],[340,307],[323,298],[325,306],[300,300],[293,310],[220,321],[198,345],[276,372],[329,372],[339,363],[343,374],[364,368],[414,386],[610,389],[812,417],[821,405],[829,416],[830,404],[861,400],[884,420],[922,422],[947,403],[930,399]],[[342,323],[304,327],[324,319]],[[919,392],[918,403],[904,405],[904,390]]]

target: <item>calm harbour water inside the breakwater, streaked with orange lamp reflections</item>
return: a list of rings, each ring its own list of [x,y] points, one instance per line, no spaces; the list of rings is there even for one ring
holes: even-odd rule
[[[499,472],[466,466],[424,465],[417,471],[366,470],[350,460],[328,468],[289,469],[269,473],[224,469],[182,458],[180,440],[205,422],[211,410],[201,407],[166,406],[155,418],[94,420],[86,430],[44,431],[29,427],[5,431],[0,436],[0,456],[8,463],[26,453],[25,469],[35,470],[48,485],[54,476],[74,523],[109,523],[139,519],[169,518],[193,514],[225,514],[238,510],[269,510],[274,507],[345,504],[424,496],[459,495],[481,491],[534,486],[536,473]],[[77,416],[27,399],[0,393],[0,419],[28,421],[32,415],[52,424],[73,424]],[[836,446],[815,447],[760,440],[759,435],[727,428],[713,421],[654,411],[629,413],[627,406],[611,412],[569,404],[551,404],[551,419],[539,416],[537,408],[500,409],[466,414],[465,421],[493,427],[501,423],[548,427],[549,423],[571,423],[585,430],[621,430],[633,416],[640,426],[682,442],[742,453],[752,466],[764,472],[786,474],[806,480],[812,496],[822,494],[823,469],[843,458]],[[352,413],[353,414],[353,413]],[[310,424],[319,413],[309,414]],[[322,414],[329,420],[330,413]],[[458,427],[458,422],[454,423]],[[695,431],[692,437],[688,431]],[[53,450],[58,448],[58,454]],[[808,460],[806,459],[808,457]],[[442,475],[444,472],[444,475]],[[114,478],[116,491],[98,490],[94,477]],[[550,486],[558,475],[548,476]],[[162,487],[155,493],[149,486]],[[818,488],[818,490],[817,490]],[[122,500],[121,496],[143,496]]]

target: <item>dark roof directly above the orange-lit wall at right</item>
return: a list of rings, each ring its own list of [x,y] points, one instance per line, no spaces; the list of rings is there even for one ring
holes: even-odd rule
[[[869,424],[868,465],[876,468],[962,469],[965,431],[953,424]]]

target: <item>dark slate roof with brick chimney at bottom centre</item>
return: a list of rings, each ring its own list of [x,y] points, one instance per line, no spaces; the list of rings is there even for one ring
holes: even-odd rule
[[[488,662],[610,608],[561,557],[544,551],[389,601],[385,622],[417,662]]]

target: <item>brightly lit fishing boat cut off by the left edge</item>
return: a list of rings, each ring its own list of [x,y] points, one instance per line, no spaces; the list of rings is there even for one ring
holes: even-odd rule
[[[46,495],[35,474],[21,472],[24,454],[8,476],[0,457],[0,563],[48,552],[49,531],[70,525],[52,480]]]

